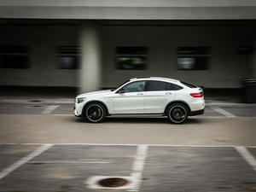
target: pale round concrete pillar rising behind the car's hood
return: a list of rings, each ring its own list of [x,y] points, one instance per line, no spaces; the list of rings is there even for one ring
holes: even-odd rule
[[[101,84],[101,41],[98,26],[84,24],[80,28],[81,61],[79,94],[99,90]]]

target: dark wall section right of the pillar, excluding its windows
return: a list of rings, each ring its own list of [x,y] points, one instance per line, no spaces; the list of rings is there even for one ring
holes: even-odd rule
[[[163,76],[207,88],[239,88],[249,77],[250,55],[236,55],[236,47],[253,46],[253,26],[104,26],[103,87],[118,85],[133,77]],[[116,46],[148,47],[148,70],[116,70]],[[211,47],[210,69],[177,69],[177,47]]]

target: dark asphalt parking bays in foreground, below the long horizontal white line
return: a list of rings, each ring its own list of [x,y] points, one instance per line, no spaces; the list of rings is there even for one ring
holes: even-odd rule
[[[253,191],[255,187],[253,165],[239,150],[255,159],[256,148],[143,145],[146,150],[142,160],[138,158],[142,155],[141,147],[2,144],[0,168],[3,172],[15,168],[4,177],[1,172],[0,191],[108,189],[100,185],[91,189],[86,183],[90,177],[99,176],[131,177],[129,181],[136,183],[130,185],[130,189],[117,187],[114,191],[236,192]],[[135,173],[139,173],[139,177],[134,177]]]

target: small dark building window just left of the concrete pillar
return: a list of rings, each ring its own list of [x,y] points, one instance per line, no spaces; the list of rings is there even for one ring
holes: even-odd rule
[[[59,69],[78,69],[79,68],[79,46],[59,46],[58,53],[58,68]]]

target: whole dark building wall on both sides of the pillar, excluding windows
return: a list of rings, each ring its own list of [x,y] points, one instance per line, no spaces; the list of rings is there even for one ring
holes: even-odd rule
[[[0,85],[78,87],[83,84],[79,82],[83,75],[79,70],[58,69],[56,62],[57,46],[80,45],[80,29],[81,26],[48,25],[2,27],[0,44],[31,47],[31,67],[0,68]],[[99,87],[114,87],[134,77],[162,76],[207,88],[240,88],[240,80],[253,75],[253,56],[236,55],[236,48],[255,45],[254,26],[99,26],[98,30],[101,34],[98,44],[102,44]],[[147,70],[117,70],[114,49],[118,46],[148,47]],[[178,70],[177,47],[181,46],[210,47],[209,70]]]

